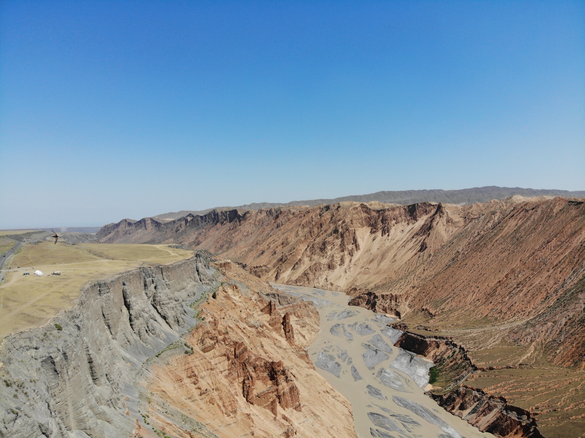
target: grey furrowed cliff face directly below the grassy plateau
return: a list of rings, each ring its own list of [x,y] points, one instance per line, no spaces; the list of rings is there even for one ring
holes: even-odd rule
[[[200,254],[137,268],[87,285],[70,311],[6,337],[0,437],[129,436],[139,417],[135,378],[195,324],[187,305],[212,272]]]

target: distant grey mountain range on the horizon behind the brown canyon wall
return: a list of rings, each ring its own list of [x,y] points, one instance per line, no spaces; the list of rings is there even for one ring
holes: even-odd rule
[[[259,210],[261,208],[270,208],[287,205],[308,205],[314,206],[319,204],[336,204],[343,201],[370,202],[378,201],[385,204],[410,205],[417,202],[443,202],[444,204],[475,204],[476,202],[488,202],[491,199],[505,199],[509,196],[521,195],[529,198],[535,196],[563,196],[565,198],[583,198],[585,191],[567,191],[555,189],[532,189],[521,187],[497,187],[488,185],[486,187],[473,187],[460,190],[404,190],[404,191],[381,191],[370,193],[368,195],[350,195],[334,199],[310,199],[309,201],[291,201],[291,202],[253,202],[252,204],[239,205],[235,207],[214,207],[207,210],[193,211],[181,210],[178,212],[163,213],[152,216],[154,219],[178,219],[192,215],[205,215],[213,210],[225,209],[243,209]]]

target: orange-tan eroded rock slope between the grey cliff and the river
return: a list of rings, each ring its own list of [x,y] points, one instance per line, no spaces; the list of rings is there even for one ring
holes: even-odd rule
[[[201,306],[204,323],[185,337],[192,354],[157,365],[146,380],[153,424],[164,423],[168,403],[222,437],[355,436],[349,403],[304,350],[319,330],[314,306],[221,264],[232,285]]]

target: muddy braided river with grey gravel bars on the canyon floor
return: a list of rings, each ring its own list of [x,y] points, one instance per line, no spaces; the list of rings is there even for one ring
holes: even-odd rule
[[[424,394],[432,363],[394,347],[394,320],[349,306],[342,292],[273,284],[319,311],[321,330],[308,347],[316,370],[351,403],[357,436],[493,437],[439,408]]]

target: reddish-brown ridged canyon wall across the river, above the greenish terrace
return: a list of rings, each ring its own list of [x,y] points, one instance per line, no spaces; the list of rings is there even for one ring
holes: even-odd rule
[[[208,249],[265,280],[373,292],[380,309],[401,316],[513,322],[497,336],[550,342],[540,351],[553,364],[585,367],[577,346],[585,299],[574,289],[585,278],[585,203],[517,201],[212,211],[166,223],[123,220],[97,236]]]

